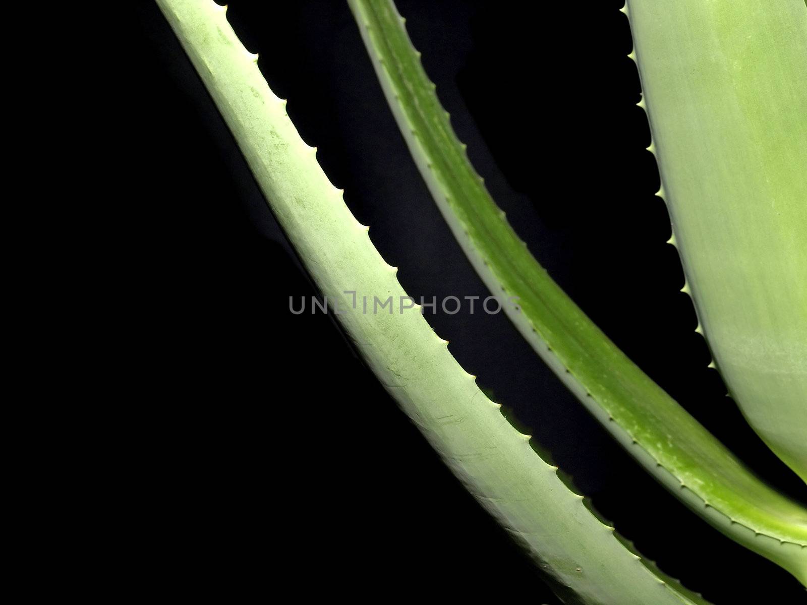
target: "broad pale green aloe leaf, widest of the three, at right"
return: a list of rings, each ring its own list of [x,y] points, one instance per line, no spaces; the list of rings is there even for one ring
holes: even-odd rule
[[[626,6],[699,331],[751,426],[807,481],[807,5]]]

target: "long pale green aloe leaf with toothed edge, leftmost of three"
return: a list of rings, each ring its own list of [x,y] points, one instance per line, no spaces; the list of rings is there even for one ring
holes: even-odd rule
[[[417,307],[363,313],[353,294],[406,299],[212,0],[157,0],[278,222],[345,332],[403,411],[538,565],[583,603],[705,603],[655,574],[565,486],[476,386]],[[271,278],[271,277],[268,277]],[[360,298],[361,299],[361,298]],[[407,305],[408,306],[408,301]],[[316,371],[316,369],[314,369]],[[351,413],[349,409],[345,413]],[[372,453],[369,453],[372,455]],[[378,528],[383,535],[383,527]],[[450,579],[450,578],[449,578]],[[447,580],[448,581],[448,580]]]

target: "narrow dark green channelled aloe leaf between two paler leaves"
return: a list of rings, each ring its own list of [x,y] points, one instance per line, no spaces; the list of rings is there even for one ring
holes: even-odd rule
[[[807,511],[751,474],[537,263],[470,165],[394,3],[349,0],[349,6],[399,128],[454,236],[492,292],[519,298],[517,307],[505,311],[522,336],[659,482],[726,536],[807,584]]]

